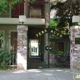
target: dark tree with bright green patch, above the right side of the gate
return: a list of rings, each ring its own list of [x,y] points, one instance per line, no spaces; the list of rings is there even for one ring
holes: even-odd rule
[[[80,0],[51,0],[51,1],[52,2],[50,9],[55,10],[56,14],[51,19],[50,26],[53,28],[58,28],[59,31],[61,31],[62,33],[65,32],[67,33],[69,27],[73,25],[72,16],[80,14]]]

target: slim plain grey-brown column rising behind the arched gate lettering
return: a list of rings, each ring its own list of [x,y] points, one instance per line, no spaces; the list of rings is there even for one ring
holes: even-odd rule
[[[46,21],[46,26],[45,28],[49,27],[49,23],[50,23],[50,0],[47,0],[48,3],[45,4],[45,21]],[[48,46],[49,42],[48,42],[48,34],[45,34],[44,36],[44,47]],[[48,64],[48,51],[45,50],[44,48],[44,61],[46,64]]]

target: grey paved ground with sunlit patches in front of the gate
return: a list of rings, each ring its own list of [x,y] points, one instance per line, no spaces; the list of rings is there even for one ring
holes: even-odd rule
[[[27,71],[0,71],[0,80],[74,80],[74,73],[80,73],[80,71],[70,69],[30,69]]]

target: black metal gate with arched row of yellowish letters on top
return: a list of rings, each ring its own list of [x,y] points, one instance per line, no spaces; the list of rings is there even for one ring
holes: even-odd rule
[[[38,32],[36,36],[41,37],[46,33],[48,33],[48,46],[45,47],[45,49],[48,51],[47,66],[57,67],[56,65],[58,65],[58,67],[69,67],[69,36],[62,36],[62,34],[58,30],[53,28],[45,28],[42,31]],[[51,35],[56,36],[56,38],[51,38]]]

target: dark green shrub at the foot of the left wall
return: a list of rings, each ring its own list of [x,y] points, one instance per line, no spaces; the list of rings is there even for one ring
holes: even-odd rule
[[[7,53],[4,51],[0,52],[0,66],[5,67],[15,58],[13,53]]]

